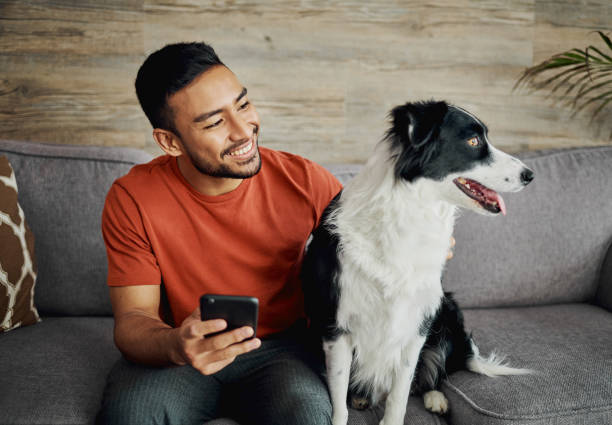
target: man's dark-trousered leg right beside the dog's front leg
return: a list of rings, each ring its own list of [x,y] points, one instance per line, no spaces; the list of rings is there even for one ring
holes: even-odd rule
[[[259,358],[250,354],[243,365],[253,361],[257,367],[231,386],[233,416],[241,425],[331,424],[321,359],[303,345],[284,340],[263,341]]]

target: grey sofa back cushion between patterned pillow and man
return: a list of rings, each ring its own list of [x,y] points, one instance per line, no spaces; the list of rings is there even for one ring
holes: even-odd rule
[[[42,315],[110,315],[101,215],[112,182],[151,156],[129,148],[0,140],[36,235]]]

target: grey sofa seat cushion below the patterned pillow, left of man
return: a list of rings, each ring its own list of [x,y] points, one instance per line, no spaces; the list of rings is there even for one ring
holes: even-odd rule
[[[93,423],[120,357],[110,317],[43,317],[0,335],[0,423]]]

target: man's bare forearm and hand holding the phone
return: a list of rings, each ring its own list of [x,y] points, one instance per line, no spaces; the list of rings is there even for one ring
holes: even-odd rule
[[[210,375],[233,362],[236,356],[260,346],[257,338],[245,341],[253,335],[253,329],[248,327],[206,338],[225,329],[227,323],[202,322],[199,308],[180,328],[172,328],[159,317],[159,291],[158,285],[110,287],[115,344],[128,360],[153,366],[190,364]]]

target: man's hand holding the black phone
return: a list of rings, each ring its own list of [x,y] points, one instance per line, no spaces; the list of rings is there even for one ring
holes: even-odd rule
[[[174,362],[179,365],[190,364],[204,375],[212,375],[234,361],[236,356],[259,348],[261,340],[253,338],[253,328],[245,326],[206,337],[227,327],[225,320],[200,320],[198,307],[187,317],[177,333]]]

